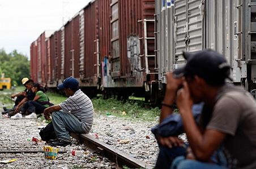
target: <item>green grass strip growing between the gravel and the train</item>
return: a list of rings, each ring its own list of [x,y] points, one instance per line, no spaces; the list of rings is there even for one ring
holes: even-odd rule
[[[1,91],[10,92],[10,94],[7,94],[6,96],[1,95],[0,102],[6,105],[13,104],[14,102],[9,99],[10,95],[23,90],[24,87],[19,86],[16,87],[15,91]],[[67,99],[66,96],[54,92],[46,92],[46,95],[53,104],[62,103],[62,101]],[[95,112],[101,115],[115,115],[117,117],[142,119],[145,121],[155,121],[155,118],[160,115],[159,108],[144,108],[143,99],[138,97],[131,97],[130,99],[131,100],[123,103],[123,101],[118,101],[114,98],[104,100],[102,96],[98,96],[98,98],[92,99],[92,103],[95,108]]]

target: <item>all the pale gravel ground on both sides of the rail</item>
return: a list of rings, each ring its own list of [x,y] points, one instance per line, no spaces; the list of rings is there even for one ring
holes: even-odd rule
[[[156,122],[142,122],[123,119],[113,116],[95,114],[95,120],[89,135],[98,137],[106,144],[112,145],[132,157],[148,164],[155,164],[158,147],[155,137],[151,134],[151,127]],[[40,138],[39,128],[45,126],[39,120],[0,118],[0,144],[1,150],[42,150],[43,144],[34,145],[27,141],[32,137]],[[72,145],[61,148],[66,151],[71,148],[82,150],[84,145]],[[71,157],[69,154],[58,154],[56,160],[45,159],[43,153],[0,154],[0,161],[5,159],[18,159],[8,164],[0,164],[0,168],[114,168],[114,164],[97,154],[89,157]]]

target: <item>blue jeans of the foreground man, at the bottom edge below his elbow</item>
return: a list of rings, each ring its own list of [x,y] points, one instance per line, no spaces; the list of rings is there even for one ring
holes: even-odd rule
[[[204,163],[180,156],[174,159],[170,169],[227,169],[214,163]]]

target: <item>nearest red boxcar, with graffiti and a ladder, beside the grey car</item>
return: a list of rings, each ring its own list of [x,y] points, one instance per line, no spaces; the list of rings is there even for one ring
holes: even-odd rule
[[[148,84],[157,75],[154,3],[154,0],[111,1],[111,53],[102,64],[105,88],[127,88],[127,95],[149,90]]]

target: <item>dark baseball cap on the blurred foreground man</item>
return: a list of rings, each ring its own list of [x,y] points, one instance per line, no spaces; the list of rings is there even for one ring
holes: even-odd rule
[[[206,82],[214,83],[221,79],[232,79],[229,77],[231,67],[224,56],[210,49],[199,52],[184,52],[187,60],[183,68],[174,70],[174,77],[198,75]]]

